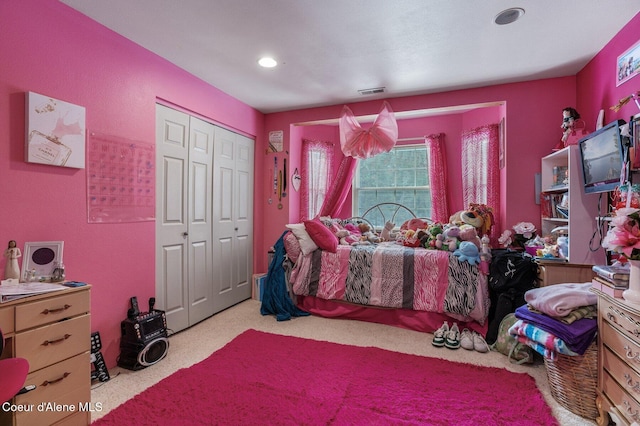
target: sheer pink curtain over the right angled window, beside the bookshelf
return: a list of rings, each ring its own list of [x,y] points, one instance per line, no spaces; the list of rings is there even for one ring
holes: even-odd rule
[[[463,205],[485,204],[500,211],[499,125],[490,124],[462,134]],[[500,224],[493,215],[491,242],[496,246]]]

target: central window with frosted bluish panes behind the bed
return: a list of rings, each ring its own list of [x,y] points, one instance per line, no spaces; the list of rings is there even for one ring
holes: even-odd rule
[[[358,161],[353,183],[353,215],[362,216],[370,207],[388,202],[402,204],[418,217],[430,217],[430,191],[426,146],[398,146]],[[406,219],[408,217],[396,217],[396,225]],[[377,223],[375,217],[372,222],[376,227],[384,226]]]

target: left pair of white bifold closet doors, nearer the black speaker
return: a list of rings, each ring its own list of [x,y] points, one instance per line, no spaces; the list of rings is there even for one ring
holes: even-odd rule
[[[161,105],[156,114],[156,301],[179,331],[213,315],[215,127]]]

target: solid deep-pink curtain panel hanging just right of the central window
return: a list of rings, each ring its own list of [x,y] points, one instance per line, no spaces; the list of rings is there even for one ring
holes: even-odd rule
[[[447,223],[450,213],[447,203],[447,157],[445,155],[444,133],[425,136],[424,141],[427,145],[427,161],[429,162],[431,219]]]

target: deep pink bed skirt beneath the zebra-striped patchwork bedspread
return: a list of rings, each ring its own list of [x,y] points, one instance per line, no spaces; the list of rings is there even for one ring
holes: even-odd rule
[[[482,336],[487,334],[488,328],[488,321],[485,321],[484,325],[480,325],[475,321],[463,322],[437,312],[356,305],[313,296],[298,296],[297,302],[300,309],[325,318],[374,322],[424,333],[433,333],[440,328],[444,321],[449,322],[449,325],[456,322],[460,330],[468,328],[469,330],[480,333]]]

